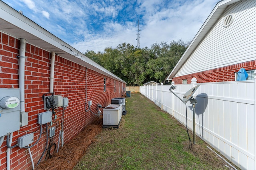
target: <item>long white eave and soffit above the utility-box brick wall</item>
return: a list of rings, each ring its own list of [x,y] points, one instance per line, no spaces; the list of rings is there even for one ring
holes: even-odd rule
[[[60,57],[126,84],[124,80],[98,65],[80,51],[74,49],[2,1],[0,1],[0,31],[18,39],[24,38],[27,43],[46,51],[54,51]]]

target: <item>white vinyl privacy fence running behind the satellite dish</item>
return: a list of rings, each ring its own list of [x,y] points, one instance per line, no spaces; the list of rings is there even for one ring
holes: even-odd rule
[[[256,79],[253,81],[232,81],[202,83],[194,94],[196,104],[196,135],[210,144],[228,160],[241,169],[254,170],[256,129]],[[172,83],[174,85],[174,82]],[[181,99],[194,87],[191,84],[176,85],[173,90]],[[140,86],[140,93],[162,110],[193,129],[193,108],[173,95],[171,85]]]

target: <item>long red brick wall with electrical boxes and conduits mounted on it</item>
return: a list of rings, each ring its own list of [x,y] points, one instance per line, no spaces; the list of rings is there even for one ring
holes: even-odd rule
[[[18,88],[18,57],[20,41],[16,38],[1,33],[0,36],[0,88]],[[25,61],[25,111],[29,115],[29,124],[21,127],[13,133],[12,146],[17,143],[17,138],[30,132],[39,132],[40,125],[38,113],[44,112],[42,95],[49,92],[50,88],[50,59],[51,53],[26,44]],[[58,54],[55,58],[54,95],[68,97],[69,105],[64,112],[64,143],[70,141],[86,125],[90,124],[95,115],[85,111],[86,101],[86,67],[64,59]],[[106,91],[103,90],[103,79],[106,78]],[[87,101],[92,101],[91,109],[97,113],[97,103],[105,107],[111,103],[114,97],[121,97],[119,89],[122,84],[116,81],[116,93],[114,92],[114,79],[102,75],[96,71],[87,69]],[[87,105],[88,109],[88,105]],[[102,109],[101,109],[102,111]],[[103,111],[102,111],[103,112]],[[54,142],[58,144],[60,120],[63,109],[56,109],[58,119],[52,126],[56,126]],[[59,122],[58,122],[59,121]],[[2,128],[0,126],[0,128]],[[30,131],[30,132],[28,132]],[[39,133],[34,133],[34,141]],[[34,144],[34,142],[33,142]],[[31,148],[34,164],[38,162],[46,146],[46,127],[43,126],[43,134],[36,146]],[[0,146],[0,169],[6,169],[6,137]],[[43,157],[43,159],[45,156]],[[10,155],[11,169],[32,169],[28,149],[15,147]]]

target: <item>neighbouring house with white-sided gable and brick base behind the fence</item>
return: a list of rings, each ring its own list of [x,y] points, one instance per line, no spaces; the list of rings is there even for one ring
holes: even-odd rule
[[[240,68],[247,80],[256,69],[256,2],[222,0],[204,22],[168,80],[175,84],[236,81]]]

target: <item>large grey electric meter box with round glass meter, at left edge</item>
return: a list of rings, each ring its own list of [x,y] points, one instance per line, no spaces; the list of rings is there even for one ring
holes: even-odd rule
[[[0,88],[0,137],[20,129],[20,89]]]

